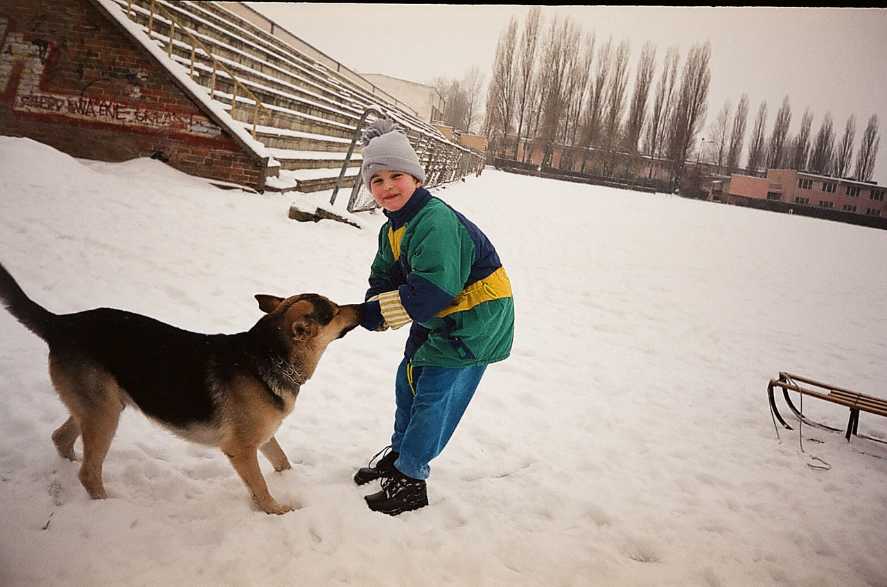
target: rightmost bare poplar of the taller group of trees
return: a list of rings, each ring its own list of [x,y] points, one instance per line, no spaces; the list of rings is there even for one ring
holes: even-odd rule
[[[681,72],[678,104],[671,116],[669,158],[673,163],[675,184],[683,176],[684,163],[690,145],[705,121],[705,107],[709,98],[711,71],[711,43],[694,45],[687,53]]]

